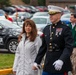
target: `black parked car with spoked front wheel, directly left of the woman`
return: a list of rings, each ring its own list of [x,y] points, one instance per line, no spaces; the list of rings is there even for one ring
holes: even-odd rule
[[[20,32],[19,26],[8,20],[0,19],[0,49],[8,49],[9,52],[15,53]]]

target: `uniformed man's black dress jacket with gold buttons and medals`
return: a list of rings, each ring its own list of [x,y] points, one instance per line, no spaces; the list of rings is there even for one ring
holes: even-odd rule
[[[43,30],[42,46],[39,49],[35,62],[41,63],[46,53],[44,71],[49,73],[64,73],[72,70],[70,56],[73,50],[73,37],[69,26],[59,21],[57,24],[47,25]],[[53,63],[56,60],[64,62],[60,71],[55,70]]]

